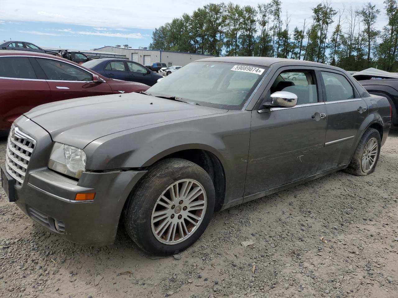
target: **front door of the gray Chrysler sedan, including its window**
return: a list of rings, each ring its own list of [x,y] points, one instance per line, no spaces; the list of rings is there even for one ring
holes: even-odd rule
[[[293,108],[252,111],[245,196],[324,171],[327,121],[319,79],[313,70],[288,69],[272,81],[268,95],[288,91],[298,102]]]

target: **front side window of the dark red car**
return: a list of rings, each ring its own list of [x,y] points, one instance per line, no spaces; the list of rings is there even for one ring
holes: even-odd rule
[[[47,79],[53,81],[92,81],[93,76],[81,68],[59,60],[37,58]]]

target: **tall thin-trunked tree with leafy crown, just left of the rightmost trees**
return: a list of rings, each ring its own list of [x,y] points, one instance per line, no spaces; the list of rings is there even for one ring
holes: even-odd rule
[[[371,45],[376,42],[376,38],[380,34],[380,31],[375,29],[377,16],[380,14],[380,10],[376,8],[376,5],[372,5],[371,2],[368,2],[361,10],[357,11],[357,13],[365,26],[364,32],[368,44],[367,68],[369,68],[371,64]]]

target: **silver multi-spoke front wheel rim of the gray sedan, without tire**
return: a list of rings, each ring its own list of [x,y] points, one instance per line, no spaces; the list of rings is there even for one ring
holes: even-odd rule
[[[206,192],[199,182],[193,179],[174,182],[164,190],[153,207],[152,233],[164,244],[185,241],[201,224],[206,206]]]

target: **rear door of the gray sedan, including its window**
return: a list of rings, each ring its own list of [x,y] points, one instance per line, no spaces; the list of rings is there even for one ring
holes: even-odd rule
[[[368,106],[345,74],[325,70],[320,72],[323,84],[328,129],[325,161],[328,168],[349,163],[358,130],[368,115]]]

